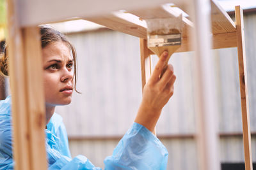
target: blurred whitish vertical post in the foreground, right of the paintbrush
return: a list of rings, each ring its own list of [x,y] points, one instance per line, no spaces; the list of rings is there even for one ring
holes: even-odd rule
[[[193,0],[189,5],[195,23],[195,113],[198,169],[218,170],[218,115],[214,67],[211,56],[211,5],[209,0]]]

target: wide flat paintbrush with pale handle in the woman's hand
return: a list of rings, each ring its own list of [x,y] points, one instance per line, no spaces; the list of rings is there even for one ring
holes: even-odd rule
[[[161,53],[168,51],[168,59],[164,63],[164,69],[160,75],[166,70],[168,60],[171,55],[181,45],[181,29],[182,15],[172,18],[154,18],[147,19],[147,46],[160,57]]]

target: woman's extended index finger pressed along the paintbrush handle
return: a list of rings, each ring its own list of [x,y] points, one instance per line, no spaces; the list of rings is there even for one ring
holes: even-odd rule
[[[159,75],[161,74],[161,72],[163,70],[163,67],[164,67],[164,64],[165,64],[167,58],[168,58],[168,52],[164,51],[161,54],[161,56],[160,56],[160,58],[159,58],[159,60],[158,60],[158,62],[156,64],[156,67],[155,67],[155,69],[154,69],[154,71],[153,71],[153,73],[151,75],[150,80],[155,81],[155,82],[157,80],[159,80]]]

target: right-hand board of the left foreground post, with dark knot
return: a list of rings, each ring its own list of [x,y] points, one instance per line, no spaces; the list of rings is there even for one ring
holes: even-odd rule
[[[26,65],[26,97],[29,124],[31,169],[47,169],[45,152],[45,99],[43,64],[38,27],[22,29],[24,34],[24,61]]]

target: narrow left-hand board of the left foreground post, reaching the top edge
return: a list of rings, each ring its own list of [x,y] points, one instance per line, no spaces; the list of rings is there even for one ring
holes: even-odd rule
[[[17,20],[16,1],[7,2],[8,55],[10,59],[10,81],[12,84],[13,158],[15,169],[31,169],[29,162],[29,132],[26,115],[26,76],[24,74],[24,49],[22,32]],[[19,82],[19,83],[18,83]]]

